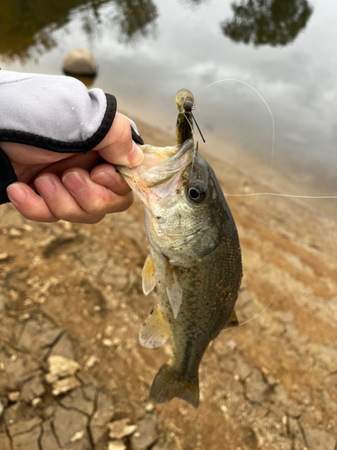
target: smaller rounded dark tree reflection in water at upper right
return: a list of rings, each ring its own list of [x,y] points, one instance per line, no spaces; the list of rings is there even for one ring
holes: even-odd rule
[[[282,46],[296,39],[313,12],[306,0],[244,0],[232,4],[234,18],[221,23],[235,42]]]

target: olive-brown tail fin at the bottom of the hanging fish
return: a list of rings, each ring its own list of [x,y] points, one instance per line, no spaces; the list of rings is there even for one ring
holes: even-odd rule
[[[150,401],[163,403],[174,397],[191,403],[194,408],[199,406],[199,379],[198,374],[190,382],[181,375],[170,370],[169,365],[164,364],[155,375],[155,380],[150,389]]]

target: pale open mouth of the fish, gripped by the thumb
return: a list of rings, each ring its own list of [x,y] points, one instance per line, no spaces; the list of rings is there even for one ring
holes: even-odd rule
[[[132,169],[117,166],[120,174],[134,191],[135,184],[143,188],[155,187],[189,166],[194,152],[194,140],[187,139],[183,144],[174,147],[143,145],[139,148],[144,153],[141,165]]]

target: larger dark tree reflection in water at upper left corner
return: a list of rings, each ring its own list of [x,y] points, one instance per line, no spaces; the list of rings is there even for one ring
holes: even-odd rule
[[[118,23],[120,40],[133,42],[154,30],[157,10],[152,0],[1,0],[0,55],[4,60],[35,58],[58,45],[54,31],[70,23],[75,8],[82,7],[86,35],[93,37],[102,22],[100,7],[113,4],[111,25]]]

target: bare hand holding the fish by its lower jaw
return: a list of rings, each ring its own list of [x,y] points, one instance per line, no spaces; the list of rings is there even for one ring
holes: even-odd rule
[[[85,155],[13,142],[2,142],[1,148],[18,177],[7,187],[10,201],[26,219],[43,222],[97,223],[105,214],[128,209],[133,195],[112,165],[137,166],[144,157],[132,141],[129,119],[119,112],[95,151]],[[107,163],[96,166],[100,157]]]

